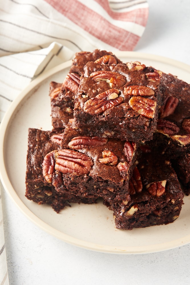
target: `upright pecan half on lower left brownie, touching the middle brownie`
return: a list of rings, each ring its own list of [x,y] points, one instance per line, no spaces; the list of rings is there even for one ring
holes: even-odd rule
[[[42,163],[42,174],[48,183],[52,183],[53,173],[55,172],[55,163],[58,156],[58,150],[48,152]]]

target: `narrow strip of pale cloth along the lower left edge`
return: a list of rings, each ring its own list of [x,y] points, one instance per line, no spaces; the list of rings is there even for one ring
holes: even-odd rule
[[[5,238],[3,231],[3,211],[1,203],[1,184],[0,184],[0,284],[8,285],[9,276],[7,271],[7,259],[5,252]]]

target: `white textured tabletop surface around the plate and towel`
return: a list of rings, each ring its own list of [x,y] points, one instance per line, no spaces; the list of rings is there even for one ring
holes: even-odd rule
[[[149,20],[135,51],[190,64],[189,0],[149,0]],[[38,229],[2,190],[9,282],[38,284],[190,283],[190,244],[145,255],[110,255],[66,244]]]

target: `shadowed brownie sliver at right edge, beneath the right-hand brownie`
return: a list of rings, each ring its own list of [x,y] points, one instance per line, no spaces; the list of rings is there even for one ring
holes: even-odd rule
[[[188,196],[190,194],[190,154],[185,153],[173,159],[172,166],[177,173],[183,192]]]

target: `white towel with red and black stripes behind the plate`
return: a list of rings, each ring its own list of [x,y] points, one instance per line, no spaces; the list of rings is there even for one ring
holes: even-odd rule
[[[148,19],[146,0],[0,2],[0,122],[38,74],[81,50],[133,50]]]

